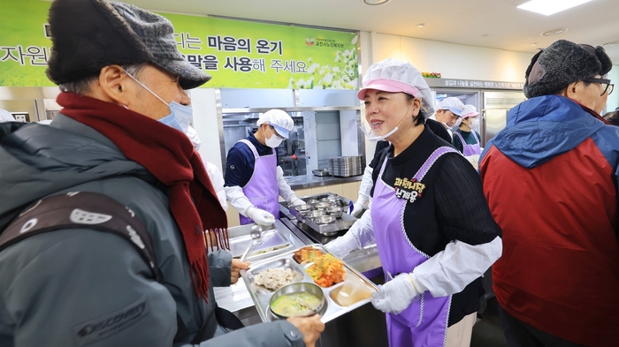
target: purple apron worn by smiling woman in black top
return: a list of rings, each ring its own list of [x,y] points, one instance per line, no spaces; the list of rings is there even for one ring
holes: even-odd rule
[[[452,147],[439,147],[435,150],[411,182],[421,181],[440,155],[449,152],[458,153]],[[387,282],[396,275],[412,272],[417,265],[430,257],[410,243],[404,230],[403,216],[406,202],[416,200],[417,193],[413,191],[408,200],[397,198],[394,188],[386,185],[382,180],[385,166],[386,160],[383,162],[378,174],[378,182],[374,188],[371,218],[372,221],[380,221],[380,223],[372,223],[372,226],[376,237],[378,257]],[[399,213],[391,213],[391,211],[399,211]],[[400,314],[386,313],[389,346],[444,346],[450,305],[451,296],[433,298],[430,292],[424,292]]]

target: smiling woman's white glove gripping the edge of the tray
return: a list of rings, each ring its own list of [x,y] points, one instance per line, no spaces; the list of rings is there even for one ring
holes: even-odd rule
[[[414,281],[415,275],[405,273],[379,285],[378,291],[372,294],[372,305],[384,313],[401,313],[420,297]]]

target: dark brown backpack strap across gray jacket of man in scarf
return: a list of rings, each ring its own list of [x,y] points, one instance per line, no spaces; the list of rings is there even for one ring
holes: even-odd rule
[[[162,282],[152,238],[134,211],[98,192],[67,192],[34,202],[0,234],[0,251],[53,230],[89,229],[125,238]]]

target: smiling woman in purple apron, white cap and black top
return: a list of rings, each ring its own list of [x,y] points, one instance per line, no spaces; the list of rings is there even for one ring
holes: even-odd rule
[[[391,145],[373,171],[370,211],[326,248],[343,257],[376,242],[385,284],[371,301],[387,313],[391,347],[469,346],[481,275],[501,256],[478,173],[425,125],[432,94],[413,65],[372,64],[357,96],[368,139]]]

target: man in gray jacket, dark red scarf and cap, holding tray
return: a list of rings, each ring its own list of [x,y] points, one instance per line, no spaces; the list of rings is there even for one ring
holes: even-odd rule
[[[226,251],[225,212],[185,135],[184,90],[210,76],[170,21],[56,0],[49,23],[64,109],[50,125],[0,124],[0,344],[313,346],[317,315],[242,328],[217,306],[213,287],[248,263]]]

